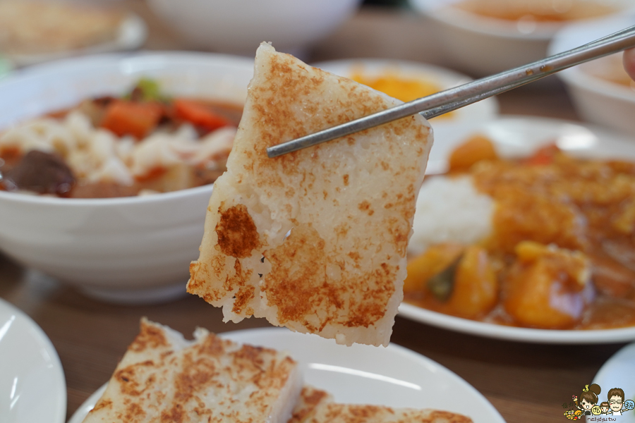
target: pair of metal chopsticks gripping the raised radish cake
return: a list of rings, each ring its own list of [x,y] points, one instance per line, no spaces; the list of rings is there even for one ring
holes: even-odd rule
[[[317,133],[283,142],[267,148],[267,156],[278,157],[298,149],[317,145],[322,142],[344,137],[383,123],[395,121],[406,116],[421,113],[427,119],[460,109],[468,104],[513,90],[545,76],[579,65],[586,61],[598,59],[609,54],[635,47],[635,25],[607,35],[593,42],[584,44],[554,56],[528,63],[524,66],[497,73],[480,80],[467,82],[459,87],[450,88],[436,94],[400,104],[384,111],[377,112],[354,121],[343,123],[321,130]]]

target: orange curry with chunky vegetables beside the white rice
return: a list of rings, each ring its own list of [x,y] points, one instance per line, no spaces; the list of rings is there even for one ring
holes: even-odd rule
[[[635,164],[579,159],[555,145],[500,159],[476,136],[449,160],[494,203],[475,245],[411,257],[406,302],[468,319],[540,329],[635,325]]]

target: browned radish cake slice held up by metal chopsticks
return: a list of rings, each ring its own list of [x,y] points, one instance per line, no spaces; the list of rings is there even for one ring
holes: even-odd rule
[[[224,321],[387,345],[430,126],[416,115],[275,159],[265,149],[397,104],[261,44],[188,292]]]

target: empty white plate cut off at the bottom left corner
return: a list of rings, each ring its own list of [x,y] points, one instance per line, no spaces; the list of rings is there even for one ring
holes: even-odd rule
[[[49,338],[0,299],[0,422],[63,423],[66,381]]]

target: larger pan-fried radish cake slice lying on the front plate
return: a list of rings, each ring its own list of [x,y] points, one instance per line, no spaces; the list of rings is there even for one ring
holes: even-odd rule
[[[301,391],[284,353],[197,329],[193,341],[143,319],[84,423],[286,423]]]

